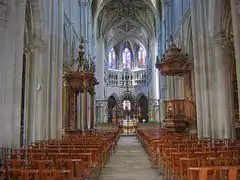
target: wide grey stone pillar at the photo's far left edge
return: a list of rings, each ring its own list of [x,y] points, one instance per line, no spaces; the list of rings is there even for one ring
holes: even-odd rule
[[[20,142],[25,2],[0,4],[0,147]],[[15,6],[16,5],[16,6]]]

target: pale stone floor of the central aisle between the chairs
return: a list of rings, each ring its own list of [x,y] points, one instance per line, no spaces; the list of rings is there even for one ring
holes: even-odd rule
[[[135,136],[121,137],[116,152],[103,168],[100,180],[161,180]]]

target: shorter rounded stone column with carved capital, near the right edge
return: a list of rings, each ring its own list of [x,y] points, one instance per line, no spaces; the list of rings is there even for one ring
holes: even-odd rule
[[[216,101],[217,118],[214,118],[216,138],[230,139],[233,132],[233,97],[232,97],[232,43],[224,35],[214,38],[215,67],[216,67]]]

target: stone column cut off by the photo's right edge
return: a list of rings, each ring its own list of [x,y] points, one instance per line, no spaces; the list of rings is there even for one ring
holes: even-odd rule
[[[240,104],[240,2],[239,0],[231,1],[231,13],[232,13],[232,26],[233,26],[233,38],[234,38],[234,49],[236,59],[236,74],[238,84],[238,101]],[[239,106],[240,112],[240,106]]]

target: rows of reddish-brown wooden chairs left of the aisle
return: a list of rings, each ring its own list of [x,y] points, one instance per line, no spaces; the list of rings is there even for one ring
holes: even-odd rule
[[[3,160],[4,180],[95,180],[114,152],[120,132],[71,132],[11,149]]]

